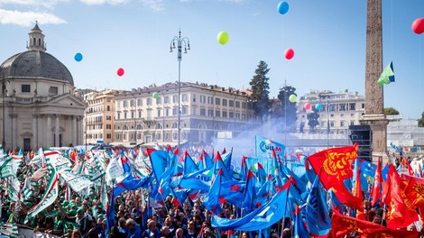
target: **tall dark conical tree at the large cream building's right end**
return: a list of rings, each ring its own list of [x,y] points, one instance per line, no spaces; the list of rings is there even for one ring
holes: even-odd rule
[[[254,70],[253,78],[250,81],[253,111],[254,114],[261,118],[261,122],[263,122],[263,115],[268,114],[268,110],[270,109],[270,85],[268,83],[270,78],[266,77],[269,71],[268,65],[261,60],[258,68]]]

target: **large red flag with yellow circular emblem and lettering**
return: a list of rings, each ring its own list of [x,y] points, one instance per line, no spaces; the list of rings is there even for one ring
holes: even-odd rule
[[[352,146],[331,148],[312,154],[309,160],[315,173],[319,174],[322,167],[319,180],[324,188],[333,189],[338,200],[356,209],[363,207],[362,197],[354,197],[345,187],[343,180],[352,178],[352,162],[357,158],[357,143]],[[305,162],[307,164],[308,161]]]

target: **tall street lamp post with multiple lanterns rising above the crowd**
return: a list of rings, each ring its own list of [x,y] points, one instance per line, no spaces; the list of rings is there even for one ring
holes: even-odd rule
[[[177,45],[177,46],[176,46]],[[182,37],[181,38],[181,30],[179,31],[179,35],[178,36],[174,36],[171,40],[171,45],[170,45],[170,52],[172,52],[172,49],[175,49],[177,47],[178,49],[178,54],[177,54],[177,59],[178,59],[178,150],[180,151],[180,132],[181,132],[181,127],[180,127],[180,123],[181,123],[181,51],[182,51],[182,47],[184,47],[184,53],[187,53],[187,50],[190,50],[190,41],[189,38],[187,37]]]

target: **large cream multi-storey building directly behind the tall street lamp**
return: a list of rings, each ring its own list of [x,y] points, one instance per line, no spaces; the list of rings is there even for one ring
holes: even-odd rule
[[[180,83],[180,143],[210,143],[253,126],[250,92],[204,83]],[[179,142],[179,84],[134,88],[115,95],[114,144]],[[253,120],[254,121],[254,120]]]

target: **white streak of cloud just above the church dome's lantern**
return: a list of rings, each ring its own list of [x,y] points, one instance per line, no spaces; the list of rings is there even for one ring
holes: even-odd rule
[[[36,12],[19,12],[0,9],[1,24],[17,24],[20,26],[33,26],[35,21],[42,24],[62,24],[67,23],[54,14],[36,13]]]

